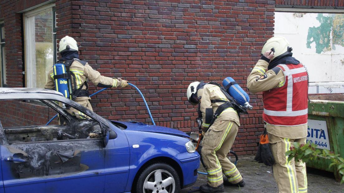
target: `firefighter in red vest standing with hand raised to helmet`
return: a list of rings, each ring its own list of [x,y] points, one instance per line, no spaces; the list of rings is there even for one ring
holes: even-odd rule
[[[308,73],[291,51],[286,38],[270,38],[247,78],[247,88],[252,93],[263,92],[263,118],[274,161],[267,156],[268,152],[262,152],[260,159],[272,165],[279,192],[304,193],[307,192],[305,163],[288,161],[285,155],[293,142],[304,144],[307,137]]]

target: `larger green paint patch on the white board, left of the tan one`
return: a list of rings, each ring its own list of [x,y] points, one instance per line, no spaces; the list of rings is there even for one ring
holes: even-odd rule
[[[332,17],[324,16],[319,13],[316,19],[320,22],[319,27],[310,27],[307,35],[307,48],[311,48],[311,44],[315,42],[315,52],[320,54],[331,50],[330,34],[332,29]]]

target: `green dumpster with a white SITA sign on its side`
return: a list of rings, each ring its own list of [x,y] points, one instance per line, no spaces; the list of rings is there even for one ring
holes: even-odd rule
[[[344,157],[344,94],[309,96],[307,141]],[[337,181],[341,176],[326,159],[307,162],[311,168],[334,172]]]

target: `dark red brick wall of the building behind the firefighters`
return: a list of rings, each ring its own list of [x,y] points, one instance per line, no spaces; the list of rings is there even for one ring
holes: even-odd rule
[[[43,2],[0,3],[11,87],[23,86],[18,12]],[[291,1],[276,2],[292,5]],[[304,2],[309,1],[296,3]],[[273,36],[275,1],[61,0],[55,4],[58,39],[74,37],[80,45],[80,59],[102,75],[137,85],[157,125],[183,131],[194,129],[196,117],[195,107],[186,101],[188,84],[221,82],[230,76],[247,91],[246,78],[262,45]],[[99,89],[90,86],[91,93]],[[250,94],[250,98],[254,110],[241,116],[234,146],[239,155],[255,153],[263,126],[261,94]],[[150,123],[140,95],[131,88],[108,89],[94,96],[92,105],[110,120]]]

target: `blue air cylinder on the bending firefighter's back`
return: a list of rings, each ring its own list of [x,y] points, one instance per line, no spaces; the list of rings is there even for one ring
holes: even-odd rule
[[[250,97],[233,78],[225,78],[222,81],[222,86],[240,105],[246,106],[249,103]]]

